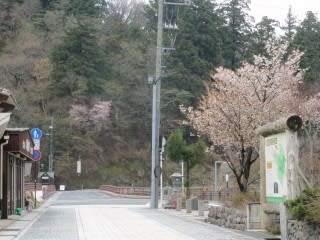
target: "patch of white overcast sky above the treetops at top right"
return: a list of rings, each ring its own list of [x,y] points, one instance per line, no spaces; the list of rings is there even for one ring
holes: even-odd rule
[[[251,15],[256,23],[263,16],[268,16],[284,24],[289,6],[299,21],[305,18],[307,11],[316,13],[320,20],[320,0],[251,0],[250,4]]]

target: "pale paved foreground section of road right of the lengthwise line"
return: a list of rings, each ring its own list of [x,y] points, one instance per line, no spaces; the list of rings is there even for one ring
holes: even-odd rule
[[[77,211],[82,229],[80,239],[255,239],[182,215],[169,214],[169,210],[109,206],[78,208]]]

